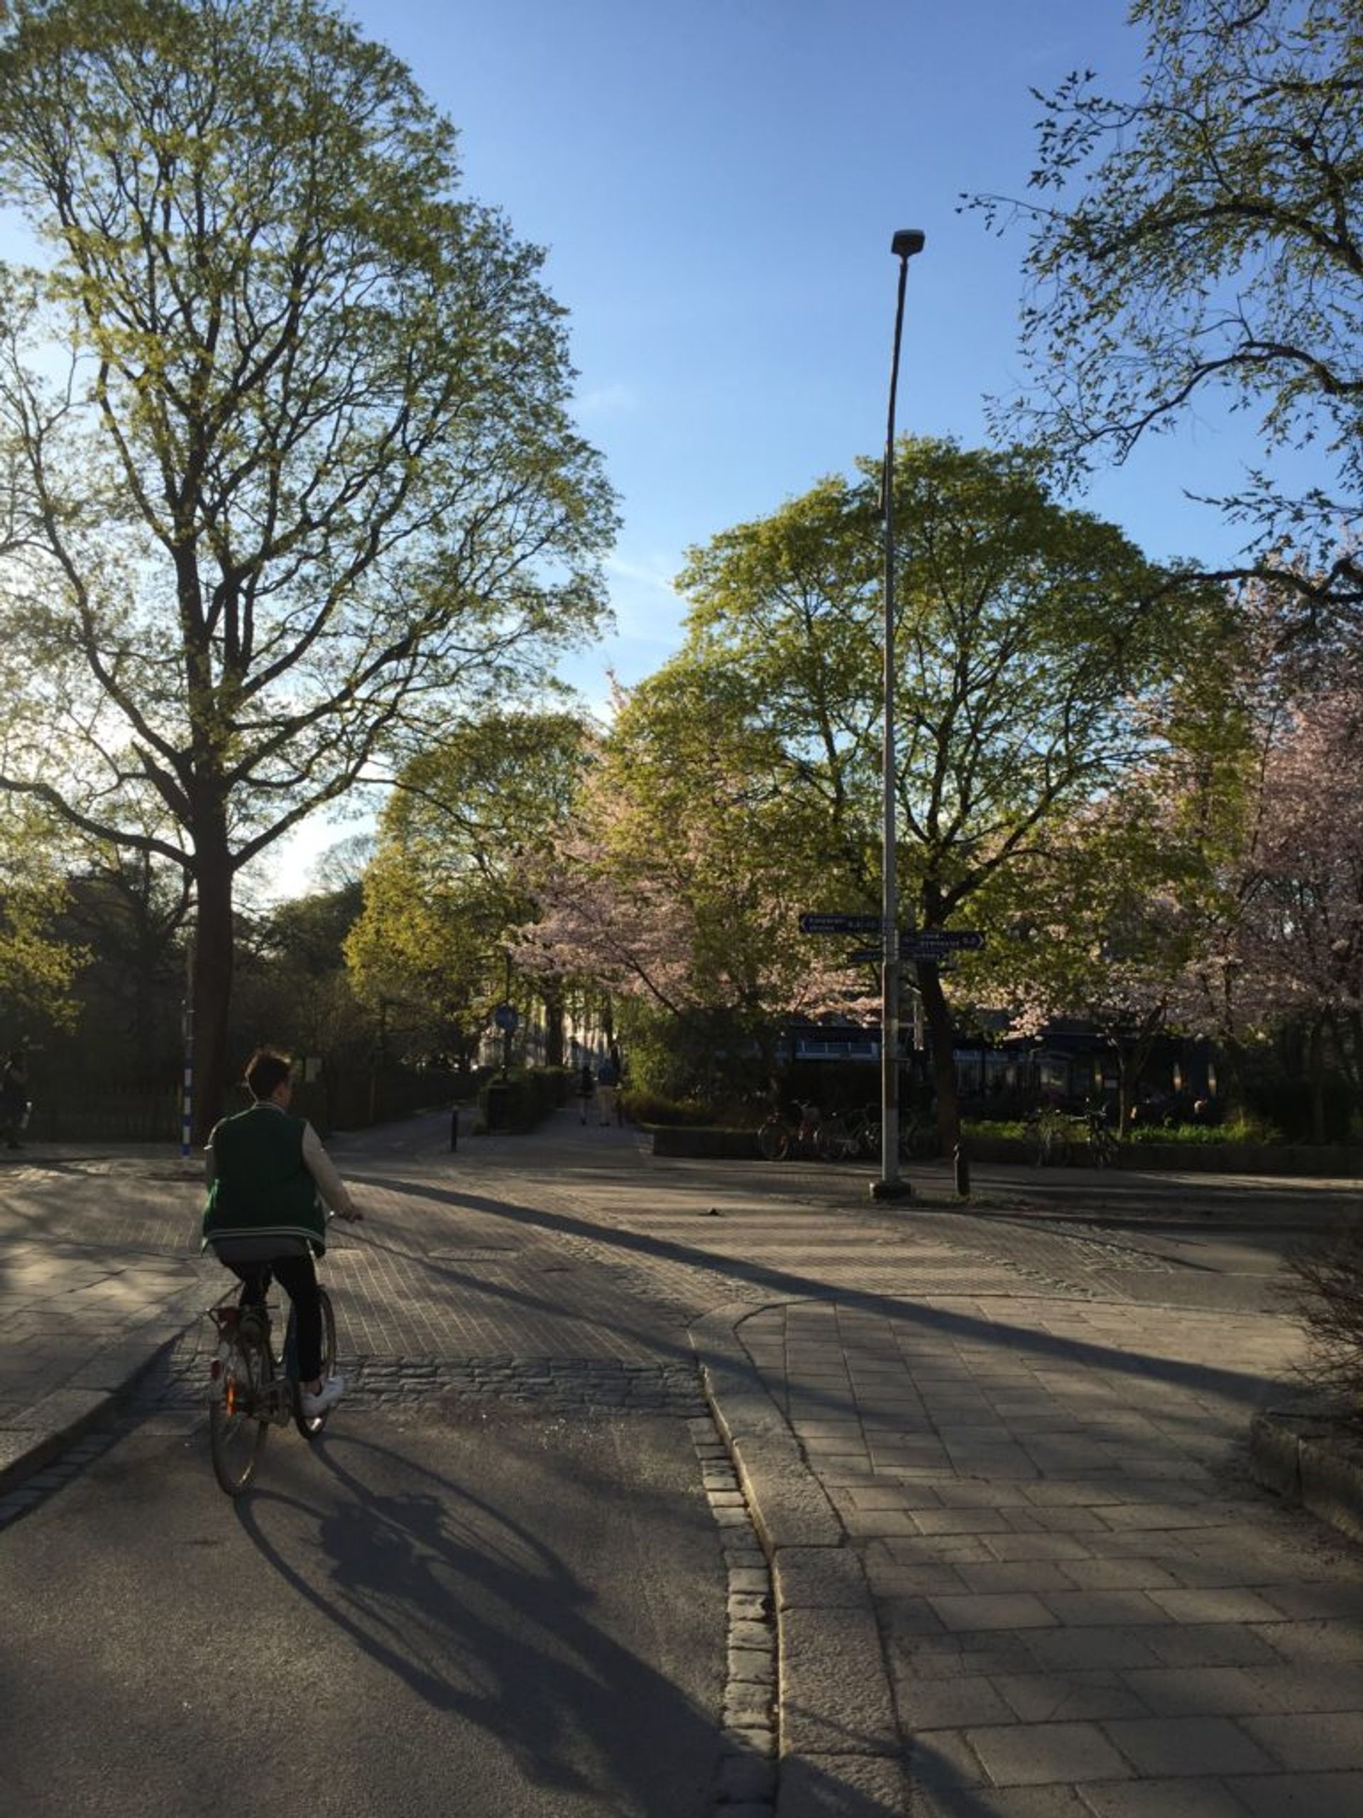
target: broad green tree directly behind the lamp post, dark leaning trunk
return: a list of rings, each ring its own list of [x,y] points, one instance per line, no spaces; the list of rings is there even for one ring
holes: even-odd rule
[[[732,711],[741,702],[761,733],[765,787],[789,816],[821,825],[827,876],[849,893],[823,900],[869,911],[880,891],[878,494],[878,465],[865,462],[856,480],[825,480],[696,551],[676,660],[727,678]],[[1005,894],[1052,827],[1149,754],[1154,702],[1216,649],[1221,596],[1169,585],[1114,525],[1058,504],[1027,449],[905,440],[894,518],[900,920],[934,929]],[[940,967],[920,964],[918,987],[952,1144]]]

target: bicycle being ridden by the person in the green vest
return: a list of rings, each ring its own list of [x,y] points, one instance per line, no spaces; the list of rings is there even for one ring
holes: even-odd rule
[[[325,1287],[322,1304],[322,1378],[336,1362],[336,1314]],[[293,1420],[305,1440],[314,1440],[331,1409],[307,1416],[298,1382],[298,1322],[289,1307],[284,1349],[274,1353],[269,1305],[240,1307],[225,1296],[207,1309],[218,1334],[209,1367],[209,1453],[213,1473],[229,1496],[251,1483],[271,1427]]]

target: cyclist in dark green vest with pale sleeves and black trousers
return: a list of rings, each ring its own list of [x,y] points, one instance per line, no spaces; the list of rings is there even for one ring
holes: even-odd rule
[[[204,1249],[242,1282],[242,1311],[264,1307],[271,1276],[298,1316],[298,1383],[303,1414],[316,1420],[345,1394],[345,1380],[322,1382],[322,1304],[314,1256],[327,1249],[327,1205],[363,1218],[316,1131],[289,1113],[293,1064],[256,1049],[245,1067],[254,1104],[213,1127]]]

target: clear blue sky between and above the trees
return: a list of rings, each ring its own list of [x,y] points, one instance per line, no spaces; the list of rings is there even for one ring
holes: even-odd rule
[[[1021,235],[961,191],[1021,193],[1040,104],[1074,67],[1134,87],[1119,0],[389,0],[354,7],[460,127],[465,189],[547,249],[580,424],[623,502],[618,631],[565,673],[598,702],[680,642],[683,551],[885,436],[896,227],[912,262],[900,427],[985,438],[1020,378]],[[1230,547],[1179,487],[1192,431],[1089,504],[1156,556]]]

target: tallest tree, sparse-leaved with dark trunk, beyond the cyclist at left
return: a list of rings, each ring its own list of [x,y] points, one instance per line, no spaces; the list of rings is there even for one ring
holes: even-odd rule
[[[236,873],[585,634],[612,498],[542,255],[325,0],[9,16],[0,787],[193,880],[207,1120]]]

